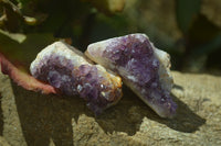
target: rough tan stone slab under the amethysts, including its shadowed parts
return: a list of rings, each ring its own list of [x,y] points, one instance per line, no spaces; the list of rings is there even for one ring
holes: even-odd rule
[[[127,88],[117,105],[95,117],[80,98],[27,91],[0,75],[0,135],[11,146],[220,146],[221,77],[172,75],[172,120],[160,119]]]

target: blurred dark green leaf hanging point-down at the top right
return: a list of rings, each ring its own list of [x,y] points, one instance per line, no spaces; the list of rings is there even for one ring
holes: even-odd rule
[[[194,18],[199,14],[201,0],[177,0],[177,23],[182,33],[187,33]]]

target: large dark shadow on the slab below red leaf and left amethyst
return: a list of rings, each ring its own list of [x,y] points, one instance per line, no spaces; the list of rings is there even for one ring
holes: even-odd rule
[[[72,119],[92,114],[76,97],[41,94],[13,85],[19,119],[28,145],[73,146]]]

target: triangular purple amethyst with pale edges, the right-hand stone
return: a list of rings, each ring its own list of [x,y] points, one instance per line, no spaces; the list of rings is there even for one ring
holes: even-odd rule
[[[92,60],[117,72],[137,96],[161,117],[172,117],[172,78],[169,55],[155,48],[145,34],[130,34],[91,44]]]

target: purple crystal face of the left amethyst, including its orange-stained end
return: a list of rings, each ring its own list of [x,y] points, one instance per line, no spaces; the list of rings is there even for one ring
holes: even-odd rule
[[[80,94],[95,114],[120,99],[122,90],[109,83],[110,79],[105,78],[107,72],[101,72],[96,65],[75,64],[81,63],[74,63],[66,56],[52,52],[44,55],[38,66],[33,65],[31,72],[36,79],[49,82],[62,93]]]

